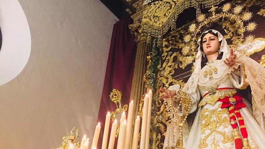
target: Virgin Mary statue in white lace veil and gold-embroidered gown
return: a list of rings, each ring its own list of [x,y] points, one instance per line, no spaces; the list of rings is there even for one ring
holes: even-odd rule
[[[202,33],[197,43],[195,70],[183,89],[179,85],[161,89],[172,120],[164,148],[265,148],[265,68],[230,49],[217,30]],[[248,85],[255,111],[239,92]],[[186,106],[182,96],[189,99]],[[182,131],[187,116],[195,111],[190,131]]]

